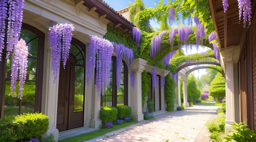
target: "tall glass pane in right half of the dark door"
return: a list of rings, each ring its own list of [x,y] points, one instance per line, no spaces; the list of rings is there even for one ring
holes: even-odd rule
[[[74,112],[83,111],[84,67],[75,67]]]

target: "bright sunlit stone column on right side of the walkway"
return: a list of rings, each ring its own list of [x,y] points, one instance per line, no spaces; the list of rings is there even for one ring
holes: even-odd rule
[[[235,122],[235,100],[234,100],[234,62],[225,62],[226,65],[226,129],[231,129],[230,124]]]

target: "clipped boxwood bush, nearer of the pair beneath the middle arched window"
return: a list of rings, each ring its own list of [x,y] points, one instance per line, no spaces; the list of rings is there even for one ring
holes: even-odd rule
[[[102,121],[102,127],[105,128],[106,122],[114,123],[117,120],[117,108],[112,106],[101,106],[101,110],[99,112],[100,119]]]

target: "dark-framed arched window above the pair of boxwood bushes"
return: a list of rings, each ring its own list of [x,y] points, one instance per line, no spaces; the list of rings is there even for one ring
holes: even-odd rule
[[[110,86],[106,87],[104,95],[101,95],[101,106],[128,105],[128,67],[126,63],[124,61],[122,62],[121,84],[118,90],[115,57],[112,57],[110,71]]]

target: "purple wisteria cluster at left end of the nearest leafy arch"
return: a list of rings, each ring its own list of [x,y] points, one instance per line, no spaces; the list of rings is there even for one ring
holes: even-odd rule
[[[158,35],[155,35],[154,38],[151,39],[151,49],[150,49],[151,58],[153,58],[160,51],[161,40],[164,33],[166,33],[166,31],[160,32]]]

